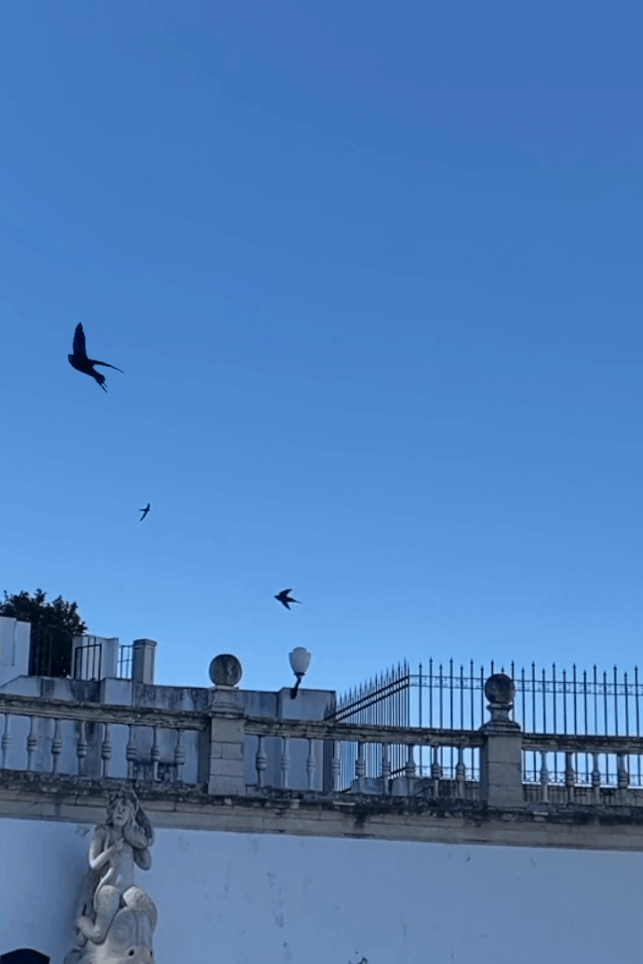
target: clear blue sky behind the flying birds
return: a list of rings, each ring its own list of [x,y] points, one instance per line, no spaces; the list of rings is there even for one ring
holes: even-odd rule
[[[642,28],[4,4],[0,589],[156,639],[160,683],[637,662]]]

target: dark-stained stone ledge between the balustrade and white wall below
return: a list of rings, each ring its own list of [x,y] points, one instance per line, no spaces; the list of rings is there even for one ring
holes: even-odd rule
[[[109,779],[81,785],[73,777],[5,772],[0,779],[0,818],[91,824],[101,815],[106,794],[118,785]],[[473,800],[347,797],[297,790],[212,795],[142,782],[136,790],[158,828],[643,851],[643,795],[632,796],[623,806],[534,803],[502,810]]]

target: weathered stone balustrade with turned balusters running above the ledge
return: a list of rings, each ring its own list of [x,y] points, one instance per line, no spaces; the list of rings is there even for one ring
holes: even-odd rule
[[[205,711],[0,693],[0,788],[47,774],[149,792],[643,806],[643,737],[523,734],[507,718],[506,681],[489,687],[492,719],[477,731],[251,716],[223,690]]]

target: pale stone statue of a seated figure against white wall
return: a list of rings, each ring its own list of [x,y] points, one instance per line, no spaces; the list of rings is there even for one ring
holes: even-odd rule
[[[150,964],[156,908],[134,883],[134,864],[151,867],[154,831],[132,790],[114,793],[96,827],[90,873],[65,964]],[[83,949],[83,950],[80,950]]]

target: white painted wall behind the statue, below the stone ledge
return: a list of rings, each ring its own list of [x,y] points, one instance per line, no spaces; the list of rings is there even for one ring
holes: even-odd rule
[[[88,826],[0,819],[0,953],[62,964]],[[158,964],[640,957],[643,854],[159,830]]]

